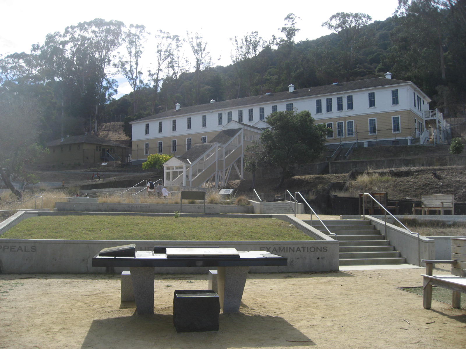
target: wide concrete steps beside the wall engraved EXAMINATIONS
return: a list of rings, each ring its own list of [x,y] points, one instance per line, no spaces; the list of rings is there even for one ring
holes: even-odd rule
[[[310,224],[310,221],[304,221]],[[384,235],[370,221],[324,220],[331,233],[340,242],[340,265],[402,264],[406,259],[385,240]],[[312,226],[322,233],[329,232],[320,221],[313,220]]]

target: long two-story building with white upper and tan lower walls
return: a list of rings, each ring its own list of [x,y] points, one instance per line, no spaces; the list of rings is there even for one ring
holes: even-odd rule
[[[247,141],[258,139],[261,130],[269,127],[267,116],[285,110],[310,111],[315,123],[323,123],[329,129],[329,148],[354,143],[364,146],[425,143],[433,134],[436,141],[441,141],[444,123],[440,113],[429,111],[430,101],[412,82],[391,79],[391,74],[386,73],[385,78],[297,90],[290,85],[285,92],[211,101],[191,107],[177,104],[172,110],[131,122],[132,163],[142,163],[149,154],[159,153],[172,154],[174,159],[189,159],[185,168],[190,167],[196,159],[185,153],[194,146],[212,140],[222,144],[215,137],[226,129],[241,130],[241,137]],[[426,129],[427,120],[429,129]],[[224,136],[220,138],[226,140]],[[194,155],[192,151],[190,153]],[[198,153],[196,151],[195,156]],[[242,155],[240,162],[237,167],[242,167]],[[181,173],[181,164],[178,165],[178,172],[175,172]],[[242,172],[240,168],[238,171]],[[188,177],[192,181],[192,176]]]

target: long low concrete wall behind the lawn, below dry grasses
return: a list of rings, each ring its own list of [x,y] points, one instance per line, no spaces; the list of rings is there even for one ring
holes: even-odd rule
[[[109,203],[109,202],[55,202],[58,211],[65,212],[159,212],[180,211],[178,204]],[[183,204],[182,213],[204,213],[204,204]],[[254,213],[253,206],[207,205],[206,213]]]

